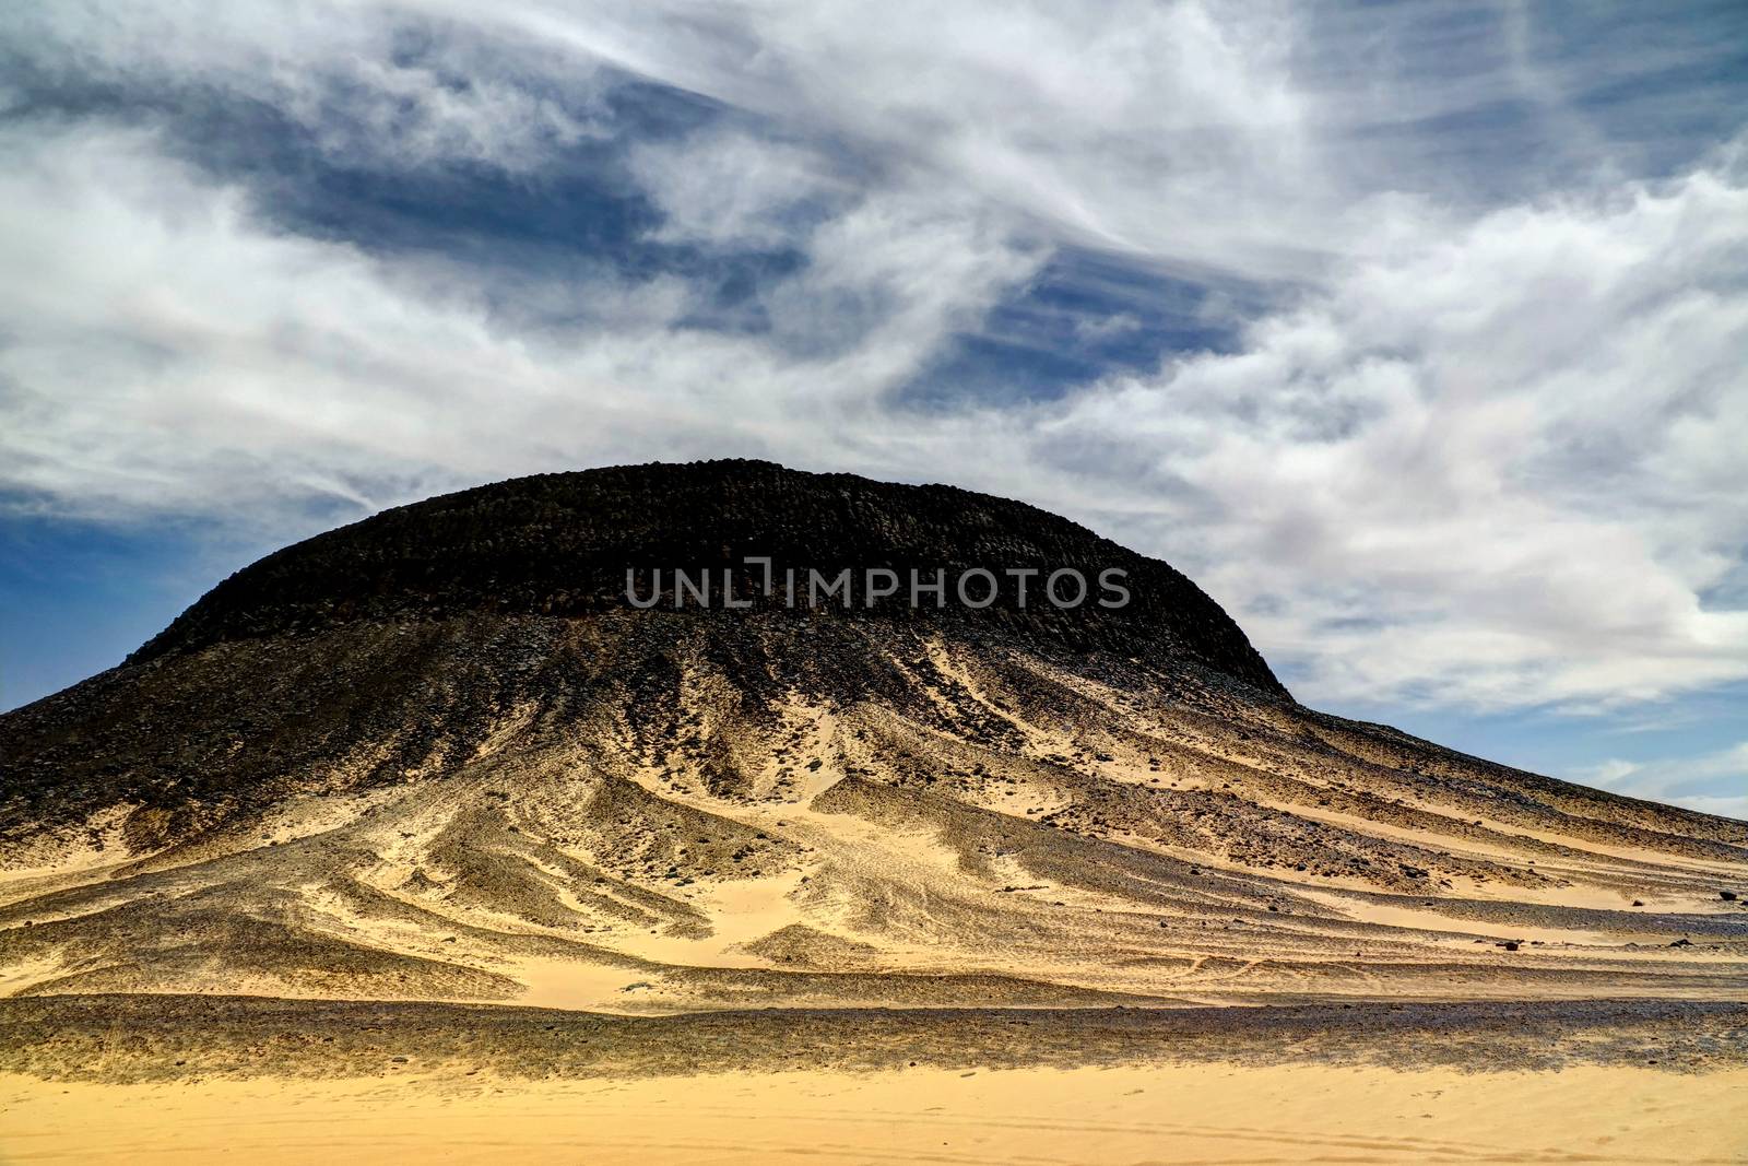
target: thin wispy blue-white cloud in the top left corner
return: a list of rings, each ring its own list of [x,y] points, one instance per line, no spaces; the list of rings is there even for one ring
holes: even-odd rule
[[[68,0],[19,12],[0,52],[26,91],[75,101],[122,93],[145,115],[259,103],[322,152],[362,166],[528,171],[601,133],[608,79],[598,61],[413,17],[397,5],[320,0]]]

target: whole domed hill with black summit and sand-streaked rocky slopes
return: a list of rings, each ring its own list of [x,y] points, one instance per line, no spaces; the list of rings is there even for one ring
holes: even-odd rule
[[[746,556],[1002,593],[792,610]],[[638,610],[628,566],[731,570],[750,607]],[[1131,601],[1023,607],[1005,568],[1122,568]],[[0,771],[5,995],[1748,988],[1748,823],[1308,710],[1180,573],[1031,507],[764,463],[519,479],[288,547],[0,717]]]

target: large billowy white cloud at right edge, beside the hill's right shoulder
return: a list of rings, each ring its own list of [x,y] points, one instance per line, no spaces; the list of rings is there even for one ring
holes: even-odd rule
[[[1748,185],[1724,166],[1358,262],[1243,351],[1040,418],[1040,456],[1194,482],[1199,575],[1325,698],[1741,678],[1748,612],[1703,601],[1748,547]]]

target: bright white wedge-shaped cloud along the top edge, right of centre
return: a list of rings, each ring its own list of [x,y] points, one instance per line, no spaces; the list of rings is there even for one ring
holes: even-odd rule
[[[456,12],[456,5],[428,5]],[[1306,269],[1313,168],[1280,3],[505,5],[502,28],[850,140],[1058,238],[1246,276]]]

